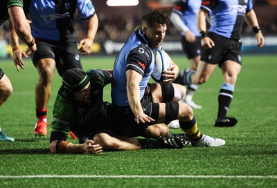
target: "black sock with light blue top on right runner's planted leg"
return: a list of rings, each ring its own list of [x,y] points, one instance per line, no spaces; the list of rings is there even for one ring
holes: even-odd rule
[[[227,111],[233,98],[233,91],[235,86],[232,84],[224,83],[218,94],[218,113],[217,118],[226,117]]]

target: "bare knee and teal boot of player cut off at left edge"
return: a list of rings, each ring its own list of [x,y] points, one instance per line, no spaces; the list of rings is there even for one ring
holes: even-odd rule
[[[10,79],[3,73],[0,68],[0,106],[8,100],[8,97],[12,95],[12,84],[10,83]],[[14,141],[14,138],[5,135],[3,131],[1,131],[0,127],[0,142],[3,141]]]

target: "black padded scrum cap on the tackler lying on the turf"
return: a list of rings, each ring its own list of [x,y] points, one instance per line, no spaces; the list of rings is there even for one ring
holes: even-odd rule
[[[72,92],[81,91],[89,84],[89,77],[80,68],[71,68],[67,70],[62,77],[64,88]]]

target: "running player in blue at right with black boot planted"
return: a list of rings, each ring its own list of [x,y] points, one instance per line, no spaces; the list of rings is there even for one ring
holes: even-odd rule
[[[206,32],[206,17],[211,15],[211,28]],[[218,112],[215,126],[234,126],[238,120],[228,117],[235,82],[242,66],[242,26],[244,20],[256,34],[257,46],[265,39],[260,30],[252,0],[203,0],[198,15],[198,28],[202,37],[201,61],[197,71],[183,76],[186,84],[203,84],[215,67],[222,70],[224,83],[218,95]]]

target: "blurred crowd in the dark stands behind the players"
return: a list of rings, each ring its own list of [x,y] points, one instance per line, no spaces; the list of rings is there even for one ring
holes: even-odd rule
[[[125,41],[127,36],[129,36],[140,24],[140,17],[134,15],[125,19],[120,14],[112,15],[107,14],[107,12],[98,12],[99,26],[96,35],[96,40],[98,42],[112,40],[112,41]],[[273,21],[267,19],[262,19],[258,17],[260,23],[260,28],[264,35],[276,35],[277,33],[277,18]],[[8,21],[0,28],[0,40],[8,41]],[[78,40],[83,39],[85,22],[81,21],[78,17],[78,12],[75,14],[75,35]],[[179,39],[179,31],[172,25],[168,24],[167,39]],[[243,35],[253,35],[251,28],[244,23]]]

